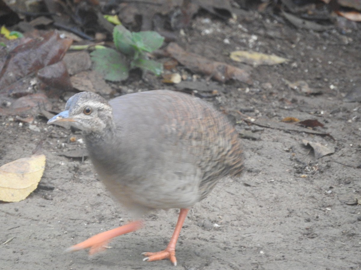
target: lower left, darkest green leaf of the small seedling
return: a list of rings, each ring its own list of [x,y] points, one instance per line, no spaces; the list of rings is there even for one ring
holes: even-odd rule
[[[97,49],[91,52],[94,70],[101,73],[105,80],[122,81],[128,78],[129,68],[126,57],[110,48]]]

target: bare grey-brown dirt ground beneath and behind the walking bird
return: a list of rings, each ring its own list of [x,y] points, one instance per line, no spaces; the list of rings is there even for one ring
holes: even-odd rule
[[[38,130],[14,117],[0,118],[1,165],[39,147],[47,158],[35,192],[0,204],[0,269],[360,269],[361,108],[343,101],[361,87],[360,29],[300,30],[249,11],[236,23],[198,17],[178,41],[187,51],[234,65],[224,52],[255,50],[290,62],[253,68],[251,86],[217,84],[219,95],[207,99],[234,116],[240,134],[248,134],[241,138],[245,170],[240,178],[222,179],[192,208],[178,240],[177,267],[167,260],[143,262],[140,255],[166,246],[179,212],[173,209],[145,217],[143,229],[114,239],[94,257],[64,252],[129,216],[97,179],[90,160],[57,155],[83,148],[69,142],[71,136],[81,139],[80,133],[47,126],[40,116],[32,124]],[[286,83],[301,80],[318,94]],[[149,74],[122,84],[121,94],[164,88],[174,86]],[[64,105],[58,100],[54,108]],[[237,111],[272,127],[285,117],[317,119],[325,126],[315,130],[334,140],[294,131],[292,124],[290,130],[249,124]],[[335,153],[316,159],[302,140]]]

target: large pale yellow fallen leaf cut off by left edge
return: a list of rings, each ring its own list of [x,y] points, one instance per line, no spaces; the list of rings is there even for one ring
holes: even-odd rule
[[[0,167],[0,201],[19,202],[33,192],[45,168],[45,155],[20,158]]]

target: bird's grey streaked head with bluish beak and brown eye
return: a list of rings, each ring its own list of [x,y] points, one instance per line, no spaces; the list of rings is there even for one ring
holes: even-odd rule
[[[65,105],[65,111],[57,114],[48,124],[69,122],[84,134],[101,134],[113,125],[112,107],[100,95],[81,92],[72,96]]]

